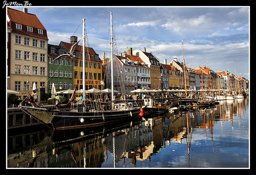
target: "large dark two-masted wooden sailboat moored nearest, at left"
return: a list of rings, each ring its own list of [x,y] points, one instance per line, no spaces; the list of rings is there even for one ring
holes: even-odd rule
[[[111,59],[113,60],[113,20],[112,20],[112,11],[110,11],[110,20],[111,20]],[[82,61],[85,62],[85,19],[82,19]],[[112,61],[111,68],[113,70],[114,62]],[[62,130],[62,129],[71,129],[71,128],[82,128],[82,127],[95,127],[101,126],[103,124],[110,124],[114,122],[121,122],[124,120],[132,120],[137,119],[138,114],[140,113],[140,108],[134,105],[132,102],[127,103],[127,101],[123,101],[122,103],[114,104],[114,83],[112,82],[112,102],[111,103],[103,103],[103,102],[94,102],[94,101],[86,101],[85,100],[85,79],[84,79],[84,71],[85,64],[82,67],[83,74],[83,98],[82,104],[83,109],[72,110],[72,111],[63,111],[60,110],[61,107],[67,107],[71,105],[71,101],[74,99],[75,90],[71,96],[68,104],[64,106],[59,106],[59,109],[47,109],[40,108],[33,102],[33,93],[35,93],[36,89],[32,92],[32,95],[28,97],[28,101],[33,107],[23,106],[22,103],[19,104],[19,108],[29,113],[30,115],[36,117],[40,121],[44,122],[47,125],[52,126],[53,130]],[[111,73],[112,81],[114,80],[114,71]],[[89,103],[99,103],[102,105],[111,105],[111,110],[91,110],[86,111],[86,105]]]

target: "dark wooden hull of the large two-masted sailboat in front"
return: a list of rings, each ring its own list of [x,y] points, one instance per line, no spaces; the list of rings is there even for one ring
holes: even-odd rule
[[[95,127],[114,122],[137,119],[140,108],[132,110],[111,110],[96,112],[60,111],[45,108],[19,106],[45,124],[52,124],[54,130]]]

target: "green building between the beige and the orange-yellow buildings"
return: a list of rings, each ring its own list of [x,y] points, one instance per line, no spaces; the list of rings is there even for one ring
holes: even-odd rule
[[[48,93],[54,83],[56,91],[73,89],[73,61],[67,56],[53,61],[59,55],[67,54],[58,45],[48,44]]]

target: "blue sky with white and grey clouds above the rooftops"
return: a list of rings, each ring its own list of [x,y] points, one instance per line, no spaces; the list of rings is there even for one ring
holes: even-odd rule
[[[23,7],[12,7],[17,10]],[[186,65],[229,70],[249,78],[249,7],[27,7],[37,15],[50,44],[81,37],[82,18],[90,47],[102,58],[109,53],[110,14],[113,12],[118,53],[126,47],[152,52],[163,63],[173,58]],[[104,13],[104,14],[102,14]],[[102,15],[100,15],[102,14]],[[99,16],[97,16],[99,15]],[[95,17],[94,17],[95,16]],[[79,28],[78,28],[79,27]]]

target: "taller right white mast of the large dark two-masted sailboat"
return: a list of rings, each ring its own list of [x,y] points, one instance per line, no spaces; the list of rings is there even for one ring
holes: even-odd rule
[[[112,29],[112,11],[110,11],[110,33],[111,33],[111,43],[110,43],[110,49],[111,49],[111,100],[112,100],[112,109],[114,108],[114,60],[113,60],[113,29]]]

